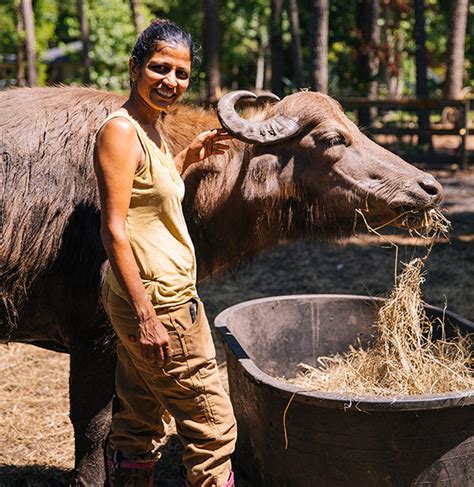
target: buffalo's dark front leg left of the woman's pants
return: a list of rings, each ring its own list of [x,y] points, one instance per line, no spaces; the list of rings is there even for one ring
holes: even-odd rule
[[[76,481],[81,486],[103,485],[104,441],[115,388],[115,353],[89,340],[72,348],[70,353],[70,417],[75,437]]]

